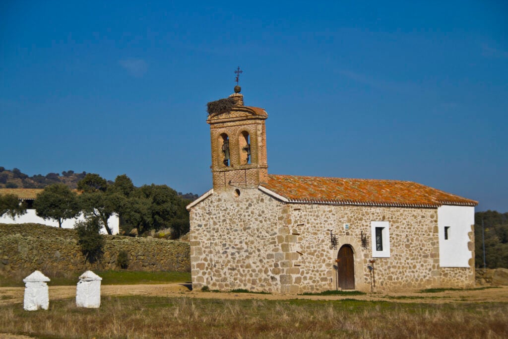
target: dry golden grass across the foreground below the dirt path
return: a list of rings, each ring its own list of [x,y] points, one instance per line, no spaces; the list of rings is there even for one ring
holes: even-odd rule
[[[3,306],[0,329],[48,338],[500,338],[508,337],[508,305],[105,297],[94,310],[74,299],[48,311]]]

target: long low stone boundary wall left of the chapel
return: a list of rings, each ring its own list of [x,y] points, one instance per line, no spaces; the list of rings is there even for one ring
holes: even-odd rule
[[[104,257],[85,263],[75,230],[45,225],[0,224],[0,275],[40,270],[51,274],[96,269],[116,269],[120,250],[129,256],[129,269],[188,271],[189,244],[165,239],[105,236]]]

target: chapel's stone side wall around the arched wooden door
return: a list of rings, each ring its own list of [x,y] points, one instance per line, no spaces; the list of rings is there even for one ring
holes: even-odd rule
[[[376,290],[474,285],[472,268],[439,267],[436,209],[291,204],[286,211],[290,232],[302,237],[293,244],[303,254],[300,267],[313,272],[308,278],[302,276],[300,291],[321,290],[325,284],[335,289],[332,268],[344,244],[351,245],[355,254],[355,288],[359,290],[370,290],[367,266],[371,259],[375,260]],[[389,258],[372,257],[372,221],[389,222]],[[345,230],[344,224],[350,229]],[[337,249],[330,245],[330,230],[337,236]],[[361,244],[362,232],[369,242],[367,248]]]

